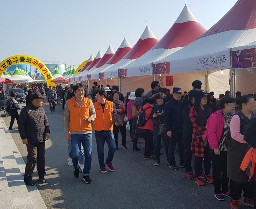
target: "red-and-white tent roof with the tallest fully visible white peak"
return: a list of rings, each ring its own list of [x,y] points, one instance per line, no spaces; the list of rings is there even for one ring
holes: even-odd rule
[[[141,69],[151,69],[152,62],[180,50],[199,38],[205,32],[206,30],[197,21],[187,5],[185,5],[178,19],[164,37],[148,52],[124,67],[127,68],[127,76],[141,75]]]

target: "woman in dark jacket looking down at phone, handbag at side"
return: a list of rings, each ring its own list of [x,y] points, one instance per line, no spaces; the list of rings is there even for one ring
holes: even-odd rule
[[[153,119],[153,140],[154,140],[154,151],[155,151],[155,166],[160,164],[160,149],[161,139],[163,138],[165,152],[168,161],[168,146],[169,139],[166,134],[165,121],[164,121],[164,110],[167,102],[166,94],[158,93],[156,95],[156,104],[153,106],[150,118]]]

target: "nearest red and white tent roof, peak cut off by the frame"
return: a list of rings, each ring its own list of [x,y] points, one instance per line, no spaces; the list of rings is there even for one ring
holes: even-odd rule
[[[171,73],[230,68],[230,49],[256,40],[256,1],[239,0],[200,38],[153,64]]]

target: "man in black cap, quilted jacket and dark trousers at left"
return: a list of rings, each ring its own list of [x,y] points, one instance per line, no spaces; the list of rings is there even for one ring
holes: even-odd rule
[[[18,128],[22,143],[27,147],[24,182],[33,186],[36,183],[32,178],[36,163],[39,183],[45,183],[45,140],[50,139],[50,126],[42,108],[46,96],[36,92],[30,98],[31,103],[20,112]]]

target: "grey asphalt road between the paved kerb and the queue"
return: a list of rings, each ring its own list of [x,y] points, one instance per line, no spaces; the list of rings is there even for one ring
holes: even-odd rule
[[[230,199],[217,201],[213,197],[213,185],[206,183],[205,187],[197,186],[193,180],[185,178],[184,169],[171,170],[166,164],[165,155],[161,156],[162,164],[159,166],[154,166],[153,160],[144,160],[142,150],[132,151],[129,137],[128,149],[120,149],[115,153],[115,171],[102,174],[99,170],[95,137],[92,135],[92,184],[85,184],[82,175],[76,179],[73,167],[67,165],[67,141],[64,137],[61,106],[56,106],[54,114],[50,114],[49,106],[44,106],[50,123],[51,139],[46,143],[47,183],[37,186],[47,208],[230,208]],[[8,125],[10,117],[4,118],[4,121]],[[26,161],[26,149],[18,131],[14,131],[12,137]],[[139,145],[140,148],[143,146],[144,144]],[[240,206],[248,208],[242,202]]]

